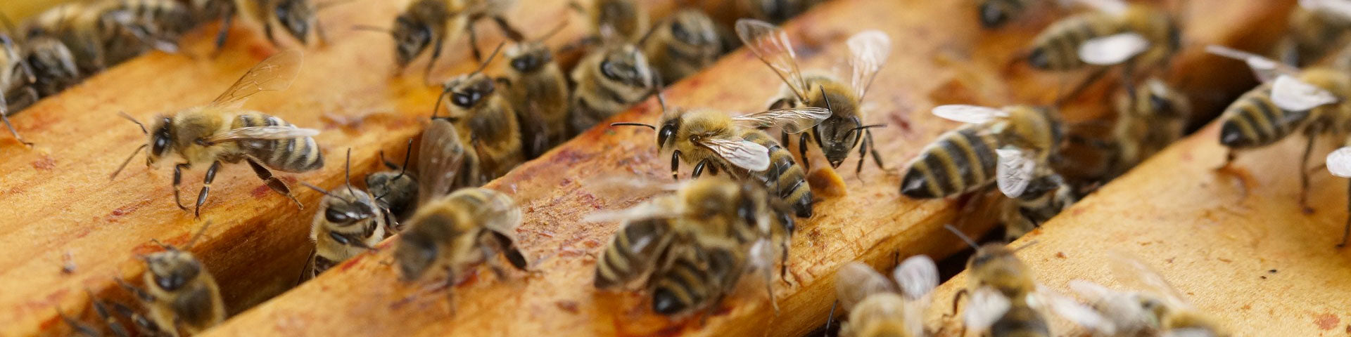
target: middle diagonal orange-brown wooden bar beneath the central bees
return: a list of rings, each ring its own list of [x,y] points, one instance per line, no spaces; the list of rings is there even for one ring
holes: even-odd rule
[[[1289,1],[1197,1],[1193,9],[1209,20],[1194,20],[1189,51],[1177,69],[1244,71],[1242,65],[1215,62],[1196,53],[1201,43],[1270,43],[1279,31],[1239,27],[1279,22]],[[942,18],[942,19],[936,19]],[[807,69],[842,65],[843,40],[866,28],[886,31],[896,43],[890,63],[869,94],[867,123],[888,123],[878,143],[889,167],[900,167],[954,123],[927,111],[936,104],[1050,102],[1056,84],[1073,80],[1005,65],[1051,18],[1034,18],[998,32],[977,28],[966,1],[839,0],[788,24]],[[1235,75],[1235,78],[1238,78]],[[1189,82],[1189,90],[1232,96],[1243,82]],[[762,108],[778,80],[748,53],[724,58],[705,73],[670,88],[671,105],[728,111]],[[1067,109],[1070,119],[1104,113],[1102,93],[1085,96]],[[659,115],[648,101],[616,120],[653,121]],[[942,229],[959,209],[957,201],[912,201],[897,193],[898,177],[866,167],[854,177],[854,160],[843,174],[848,195],[825,198],[817,214],[798,226],[789,268],[792,284],[775,282],[780,311],[759,290],[746,290],[713,314],[670,321],[650,313],[640,294],[598,294],[592,287],[594,255],[615,224],[581,224],[593,210],[632,205],[623,195],[593,194],[590,177],[640,174],[666,177],[669,158],[658,158],[647,129],[592,129],[571,143],[530,162],[489,187],[515,194],[526,210],[517,231],[520,247],[535,272],[509,272],[497,280],[480,272],[451,293],[430,291],[426,280],[400,284],[390,263],[394,240],[381,251],[335,267],[274,301],[254,307],[212,336],[801,336],[825,321],[834,299],[834,272],[850,260],[889,264],[893,253],[946,256],[961,249]]]

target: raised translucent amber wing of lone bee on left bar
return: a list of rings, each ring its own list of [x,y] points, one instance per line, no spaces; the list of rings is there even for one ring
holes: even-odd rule
[[[267,90],[284,90],[300,73],[303,57],[299,50],[285,50],[258,62],[235,81],[226,93],[212,100],[209,106],[239,106],[249,96]]]

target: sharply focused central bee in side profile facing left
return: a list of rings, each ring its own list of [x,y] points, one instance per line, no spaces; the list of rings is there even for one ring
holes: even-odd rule
[[[611,125],[639,125],[657,131],[659,154],[670,152],[671,178],[680,173],[680,162],[694,163],[690,174],[698,178],[705,168],[719,170],[735,178],[754,178],[785,204],[792,205],[798,217],[812,216],[812,189],[805,171],[793,160],[793,154],[758,129],[780,127],[784,132],[807,131],[830,117],[823,108],[785,108],[732,117],[711,109],[666,109],[662,105],[661,128],[642,123],[615,123]]]

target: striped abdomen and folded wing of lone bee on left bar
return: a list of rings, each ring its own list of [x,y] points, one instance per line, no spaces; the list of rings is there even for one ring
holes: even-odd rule
[[[230,128],[292,127],[290,123],[261,112],[245,112],[235,117]],[[239,142],[239,148],[267,167],[288,173],[304,173],[324,166],[324,158],[313,137]]]

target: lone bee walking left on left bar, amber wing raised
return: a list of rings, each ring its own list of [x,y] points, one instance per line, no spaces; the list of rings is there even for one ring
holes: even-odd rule
[[[259,92],[284,90],[290,86],[290,81],[300,71],[300,62],[301,54],[295,50],[272,55],[250,69],[226,93],[209,104],[181,109],[173,116],[158,117],[150,128],[153,132],[146,129],[141,121],[123,113],[123,117],[141,127],[141,132],[146,133],[147,140],[127,156],[126,162],[122,162],[109,179],[116,178],[118,173],[143,148],[149,147],[150,150],[146,152],[146,166],[154,166],[166,156],[177,155],[182,158],[182,162],[174,164],[173,170],[174,204],[180,209],[188,210],[178,197],[182,170],[211,163],[193,212],[200,216],[201,204],[207,202],[207,193],[211,190],[211,182],[216,178],[220,163],[245,160],[258,178],[267,183],[267,187],[286,195],[296,202],[296,206],[304,209],[304,205],[300,205],[300,201],[290,195],[290,187],[273,177],[272,170],[305,173],[323,167],[323,155],[312,137],[319,135],[319,131],[296,128],[296,125],[276,116],[239,108],[249,96]]]

